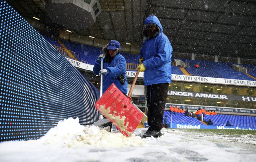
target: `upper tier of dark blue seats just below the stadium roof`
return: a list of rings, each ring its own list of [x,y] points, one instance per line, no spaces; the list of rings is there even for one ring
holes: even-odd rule
[[[61,46],[58,41],[53,38],[47,37],[44,34],[41,34],[47,41],[49,41],[53,45]],[[101,48],[94,47],[90,45],[75,43],[67,40],[60,40],[67,49],[75,52],[75,57],[78,61],[86,62],[88,64],[94,64],[97,59],[99,53],[101,53]],[[136,59],[138,55],[130,54],[130,53],[121,53],[126,59],[126,63],[134,63],[137,64]],[[185,67],[185,69],[191,75],[195,76],[203,76],[203,77],[214,77],[214,78],[226,78],[226,79],[239,79],[239,80],[253,80],[252,77],[246,75],[243,72],[238,72],[231,68],[233,63],[227,62],[214,62],[214,61],[204,61],[204,60],[190,60],[190,59],[182,59],[184,62],[188,62],[189,66]],[[199,68],[196,68],[195,65],[200,65]],[[256,68],[254,65],[246,65],[242,66],[246,68],[250,68],[248,70],[248,74],[256,77]],[[181,69],[177,66],[172,65],[172,74],[177,75],[185,75]]]

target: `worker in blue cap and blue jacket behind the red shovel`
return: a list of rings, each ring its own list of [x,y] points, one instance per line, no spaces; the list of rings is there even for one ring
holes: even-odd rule
[[[126,61],[120,54],[121,46],[118,41],[109,41],[109,43],[102,48],[103,54],[98,56],[93,72],[96,75],[103,74],[102,92],[114,83],[115,86],[124,94],[127,94],[127,79],[126,79]],[[103,69],[100,69],[100,58],[103,58]]]

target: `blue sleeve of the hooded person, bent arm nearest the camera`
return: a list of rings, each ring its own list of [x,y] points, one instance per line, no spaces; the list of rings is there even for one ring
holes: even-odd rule
[[[171,49],[169,49],[168,43],[169,41],[167,41],[166,38],[160,38],[157,45],[158,53],[155,56],[143,61],[146,70],[163,66],[166,62],[171,60],[171,53],[173,48],[170,44]]]

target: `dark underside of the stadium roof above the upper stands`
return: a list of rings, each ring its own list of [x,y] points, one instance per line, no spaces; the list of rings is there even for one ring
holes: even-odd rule
[[[47,0],[8,0],[27,18],[44,24]],[[99,0],[102,13],[75,34],[142,44],[143,22],[156,15],[175,52],[256,58],[254,0]]]

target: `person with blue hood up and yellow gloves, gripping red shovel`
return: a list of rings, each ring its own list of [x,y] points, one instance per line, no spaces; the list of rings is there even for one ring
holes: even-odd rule
[[[142,45],[137,61],[140,72],[144,72],[147,86],[149,129],[144,137],[159,137],[163,124],[168,85],[171,83],[172,45],[163,33],[163,27],[154,15],[144,21],[143,35],[147,38]],[[137,68],[137,69],[138,69]]]

